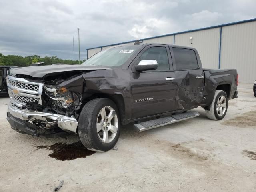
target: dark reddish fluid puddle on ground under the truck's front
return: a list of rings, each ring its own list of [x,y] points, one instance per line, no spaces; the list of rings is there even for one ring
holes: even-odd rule
[[[55,143],[50,146],[37,146],[37,149],[47,149],[52,150],[53,153],[49,154],[50,157],[55,158],[56,160],[73,160],[76,158],[83,158],[89,155],[94,154],[94,151],[90,151],[86,149],[82,142],[74,142],[74,143]]]

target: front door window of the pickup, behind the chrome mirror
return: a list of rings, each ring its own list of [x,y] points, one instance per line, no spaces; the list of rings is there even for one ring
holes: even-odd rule
[[[167,71],[169,70],[169,60],[165,47],[148,48],[141,56],[141,60],[156,60],[158,67],[152,71]]]

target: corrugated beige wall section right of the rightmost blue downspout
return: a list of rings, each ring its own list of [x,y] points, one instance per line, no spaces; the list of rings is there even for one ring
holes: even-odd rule
[[[237,69],[240,82],[256,80],[256,21],[222,27],[220,68]]]

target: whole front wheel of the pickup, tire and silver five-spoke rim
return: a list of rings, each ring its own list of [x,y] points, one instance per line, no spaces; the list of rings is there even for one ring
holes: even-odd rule
[[[97,98],[83,107],[78,120],[82,144],[92,151],[112,149],[120,135],[118,108],[112,100]]]

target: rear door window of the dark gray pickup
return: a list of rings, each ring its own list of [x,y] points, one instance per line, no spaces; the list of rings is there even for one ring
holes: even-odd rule
[[[176,70],[198,68],[196,53],[192,49],[172,48],[176,63]]]

